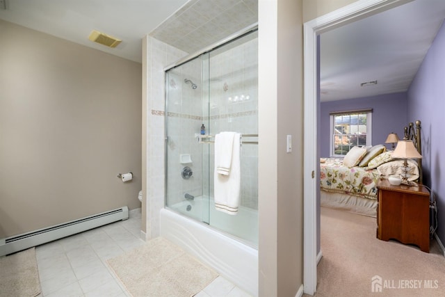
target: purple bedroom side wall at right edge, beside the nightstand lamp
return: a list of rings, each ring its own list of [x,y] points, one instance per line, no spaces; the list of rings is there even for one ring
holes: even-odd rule
[[[437,200],[437,235],[445,243],[445,26],[437,33],[407,92],[410,119],[421,120],[423,184]]]

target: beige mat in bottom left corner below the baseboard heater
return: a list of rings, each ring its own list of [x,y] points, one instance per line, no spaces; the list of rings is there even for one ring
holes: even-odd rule
[[[0,296],[34,297],[40,294],[35,249],[0,258]]]

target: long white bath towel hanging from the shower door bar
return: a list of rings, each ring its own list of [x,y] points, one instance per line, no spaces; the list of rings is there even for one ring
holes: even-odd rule
[[[228,133],[228,132],[223,132]],[[234,133],[234,132],[233,132]],[[223,211],[226,214],[236,214],[238,212],[239,206],[239,192],[241,186],[241,163],[240,163],[240,145],[241,145],[241,134],[234,133],[233,143],[232,143],[232,158],[229,164],[229,175],[220,174],[218,172],[217,166],[221,163],[218,161],[223,152],[223,147],[225,143],[220,143],[223,138],[215,138],[215,173],[214,173],[214,199],[215,208],[219,211]],[[218,163],[217,163],[218,162]]]

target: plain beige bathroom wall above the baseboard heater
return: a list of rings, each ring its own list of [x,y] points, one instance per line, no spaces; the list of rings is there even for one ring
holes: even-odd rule
[[[3,21],[0,40],[0,238],[140,207],[141,65]]]

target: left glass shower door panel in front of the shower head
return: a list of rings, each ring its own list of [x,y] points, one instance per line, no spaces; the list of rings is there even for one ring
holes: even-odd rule
[[[165,205],[209,222],[208,145],[198,143],[204,125],[208,134],[208,54],[165,73]]]

